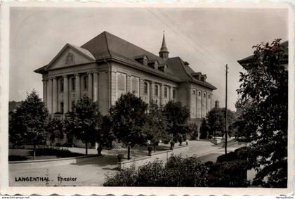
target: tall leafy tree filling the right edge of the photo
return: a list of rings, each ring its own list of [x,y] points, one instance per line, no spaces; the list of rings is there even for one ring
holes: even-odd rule
[[[288,72],[280,39],[254,46],[254,62],[240,73],[242,118],[249,133],[254,186],[287,187]]]

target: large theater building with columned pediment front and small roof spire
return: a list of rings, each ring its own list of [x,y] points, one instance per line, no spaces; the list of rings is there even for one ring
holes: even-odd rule
[[[81,96],[97,101],[106,115],[122,94],[133,92],[146,103],[181,101],[190,108],[192,121],[211,110],[215,86],[179,57],[169,58],[163,35],[159,56],[108,32],[81,47],[65,44],[48,65],[34,72],[42,75],[48,112],[67,113]]]

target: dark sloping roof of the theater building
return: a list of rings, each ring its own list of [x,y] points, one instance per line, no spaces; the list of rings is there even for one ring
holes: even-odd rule
[[[165,41],[163,41],[165,43]],[[71,45],[74,46],[74,45]],[[166,46],[166,43],[164,44]],[[98,36],[94,37],[90,41],[83,44],[81,47],[74,46],[79,51],[83,53],[91,54],[96,61],[112,58],[114,60],[121,60],[125,63],[133,63],[138,69],[145,70],[147,72],[152,72],[155,75],[166,77],[172,79],[176,82],[194,82],[196,84],[201,84],[202,86],[209,87],[210,89],[216,89],[215,86],[209,84],[208,82],[202,82],[192,76],[195,71],[189,66],[185,66],[185,63],[181,58],[169,58],[164,60],[159,56],[156,56],[149,51],[145,51],[140,47],[131,44],[129,41],[125,41],[109,32],[102,32]],[[90,55],[89,55],[90,56]],[[161,66],[167,65],[166,72],[161,70],[152,69],[150,67],[145,67],[136,61],[137,58],[143,58],[147,56],[148,60],[155,61],[159,63],[159,68]],[[35,72],[44,73],[46,72],[46,66],[41,67]]]

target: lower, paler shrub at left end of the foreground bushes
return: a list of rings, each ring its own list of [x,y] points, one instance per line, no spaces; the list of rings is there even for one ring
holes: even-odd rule
[[[105,176],[103,186],[136,186],[136,172],[135,165],[130,168],[123,168],[119,173]]]

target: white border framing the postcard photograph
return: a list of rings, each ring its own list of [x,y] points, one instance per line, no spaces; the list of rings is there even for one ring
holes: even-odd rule
[[[161,2],[4,2],[1,4],[1,59],[0,59],[0,193],[3,194],[61,194],[61,195],[280,195],[292,193],[294,176],[294,8],[287,2],[214,2],[161,1]],[[85,1],[84,1],[85,2]],[[8,186],[8,79],[9,79],[9,8],[34,7],[195,7],[195,8],[287,8],[289,12],[289,137],[288,137],[288,188],[159,188],[159,187],[20,187]]]

